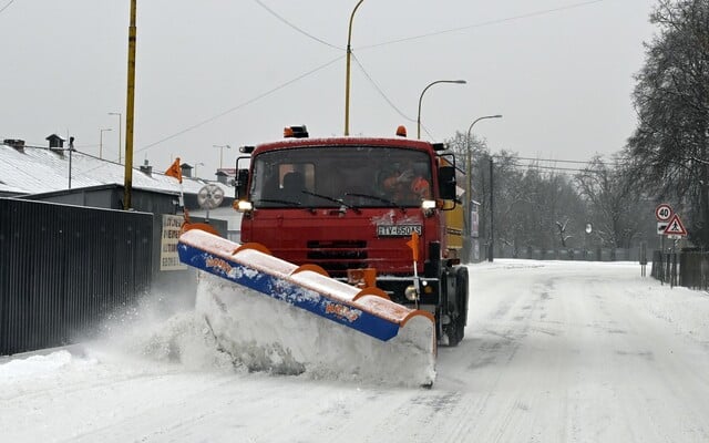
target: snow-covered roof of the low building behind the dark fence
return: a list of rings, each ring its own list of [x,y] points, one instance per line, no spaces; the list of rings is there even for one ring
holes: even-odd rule
[[[167,169],[169,165],[165,166]],[[156,171],[157,169],[157,171]],[[183,177],[182,189],[176,178],[162,173],[162,167],[151,174],[133,168],[134,188],[168,193],[197,194],[207,183],[199,178]],[[124,183],[125,166],[73,151],[71,153],[71,187],[82,188]],[[233,188],[217,183],[226,195]],[[19,151],[0,144],[0,193],[39,194],[69,188],[69,151],[25,146]]]

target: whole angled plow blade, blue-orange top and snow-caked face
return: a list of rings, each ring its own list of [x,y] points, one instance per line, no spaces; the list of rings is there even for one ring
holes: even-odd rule
[[[254,369],[433,383],[430,312],[395,303],[378,288],[332,279],[318,266],[281,260],[258,244],[239,245],[199,229],[181,235],[178,254],[205,271],[197,309],[218,342],[233,356],[247,354]],[[261,308],[249,306],[255,303]],[[258,318],[263,312],[270,318]]]

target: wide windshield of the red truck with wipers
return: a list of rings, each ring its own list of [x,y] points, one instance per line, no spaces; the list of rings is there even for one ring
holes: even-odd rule
[[[253,159],[255,207],[408,207],[432,198],[425,152],[381,146],[317,146]]]

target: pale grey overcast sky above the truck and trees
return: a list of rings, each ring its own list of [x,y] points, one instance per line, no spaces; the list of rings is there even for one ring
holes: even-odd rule
[[[455,131],[493,152],[589,159],[633,133],[634,74],[656,0],[364,0],[352,30],[350,134]],[[214,178],[236,147],[345,131],[346,45],[357,0],[137,2],[134,164],[172,158]],[[0,0],[0,137],[119,157],[130,0]],[[111,128],[112,131],[101,132]],[[125,140],[125,138],[124,138]],[[218,148],[214,145],[230,145]],[[198,163],[204,163],[199,165]]]

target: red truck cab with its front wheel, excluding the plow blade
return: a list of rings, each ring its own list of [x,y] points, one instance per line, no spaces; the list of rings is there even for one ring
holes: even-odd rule
[[[291,133],[307,135],[301,127]],[[403,137],[306,136],[243,147],[250,156],[237,159],[242,243],[342,280],[348,271],[376,269],[377,287],[433,312],[440,336],[455,344],[465,324],[467,270],[449,247],[448,233],[462,226],[446,226],[444,213],[461,209],[454,158],[444,159],[452,155],[443,148]],[[248,169],[239,169],[247,159]],[[401,177],[417,178],[418,193],[391,186]]]

